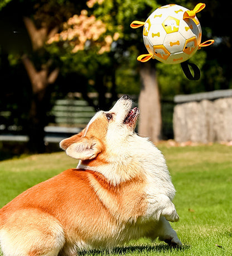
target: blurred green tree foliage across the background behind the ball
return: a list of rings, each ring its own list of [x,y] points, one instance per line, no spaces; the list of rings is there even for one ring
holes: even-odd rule
[[[21,2],[24,3],[24,1]],[[54,0],[49,1],[47,5],[45,4],[46,1],[33,2],[36,3],[36,9],[34,10],[36,11],[36,15],[38,16],[39,13],[40,17],[42,17],[42,12],[50,13],[52,8],[47,8],[46,6],[52,6]],[[2,1],[1,3],[6,5],[8,0]],[[139,87],[139,63],[136,60],[136,56],[141,53],[147,53],[147,50],[143,44],[142,30],[133,30],[129,25],[133,20],[145,21],[149,14],[157,7],[172,3],[172,1],[136,0],[132,2],[130,0],[108,0],[103,1],[102,4],[94,4],[93,8],[88,8],[85,3],[77,4],[74,1],[67,1],[66,3],[66,1],[60,0],[59,6],[63,9],[65,8],[64,3],[68,3],[69,7],[70,4],[74,4],[76,13],[80,13],[81,9],[88,10],[89,16],[93,14],[96,18],[107,24],[106,35],[113,36],[115,32],[119,32],[120,37],[114,42],[110,53],[100,55],[97,49],[94,48],[86,48],[83,52],[80,51],[76,54],[70,54],[71,49],[67,45],[61,46],[60,44],[53,44],[46,46],[47,51],[55,60],[55,64],[59,65],[61,68],[61,74],[65,77],[68,73],[76,72],[77,74],[84,75],[87,80],[93,80],[96,77],[95,73],[108,67],[107,70],[115,70],[118,92],[124,89],[122,92],[128,91],[137,94]],[[178,0],[175,3],[189,9],[192,9],[196,5],[195,1],[185,0]],[[46,8],[43,4],[45,4],[44,6]],[[215,6],[219,7],[220,5],[219,3],[215,3]],[[221,18],[219,12],[215,11],[212,13],[214,10],[215,8],[206,1],[205,10],[197,13],[203,30],[202,40],[208,39],[206,37],[211,38],[211,36],[215,36],[215,33],[220,33],[218,26],[215,26],[216,29],[212,29],[212,26],[209,26],[210,21],[215,23],[215,20],[220,20]],[[65,11],[62,12],[65,13]],[[209,13],[211,17],[209,17]],[[61,18],[56,15],[56,20],[60,21]],[[230,32],[228,31],[228,35],[229,34]],[[219,34],[219,36],[221,35]],[[219,37],[219,39],[220,38],[223,39],[224,37]],[[217,50],[213,49],[214,47],[215,46],[210,46],[211,49],[204,49],[199,53],[197,52],[190,60],[192,63],[197,64],[202,71],[201,79],[197,82],[187,80],[182,73],[180,65],[165,65],[158,63],[158,61],[153,61],[154,65],[157,67],[158,82],[162,97],[173,96],[178,93],[194,93],[220,89],[224,87],[223,84],[226,84],[229,88],[230,79],[228,81],[228,79],[225,78],[225,73],[227,75],[231,74],[231,72],[229,72],[231,65],[218,65],[218,61],[221,60],[214,58],[215,51]],[[218,45],[217,48],[219,48]],[[221,50],[219,51],[220,56],[224,56]],[[125,58],[125,56],[129,59]],[[12,64],[16,63],[15,60],[11,60]],[[225,60],[223,61],[225,62]],[[109,75],[112,75],[112,72]],[[108,78],[108,80],[110,79]],[[129,84],[129,86],[125,88],[127,84]],[[91,87],[88,85],[88,88],[94,90],[94,86]],[[110,85],[108,85],[108,91],[109,90]]]

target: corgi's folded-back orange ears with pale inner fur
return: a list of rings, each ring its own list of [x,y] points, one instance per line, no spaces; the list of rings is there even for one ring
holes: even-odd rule
[[[60,146],[67,155],[80,160],[93,159],[103,150],[98,139],[81,137],[79,134],[62,140]]]

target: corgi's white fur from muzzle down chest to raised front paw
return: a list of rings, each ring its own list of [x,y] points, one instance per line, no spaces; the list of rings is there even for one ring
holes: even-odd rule
[[[83,165],[80,160],[77,168],[99,172],[113,185],[137,175],[146,176],[148,208],[144,218],[158,220],[163,215],[168,221],[178,221],[179,217],[172,203],[176,191],[171,182],[165,158],[151,141],[138,136],[134,132],[134,127],[128,128],[123,124],[131,107],[132,101],[122,97],[109,111],[115,117],[109,124],[106,136],[108,164],[89,167]],[[99,115],[100,113],[97,113],[89,124]]]

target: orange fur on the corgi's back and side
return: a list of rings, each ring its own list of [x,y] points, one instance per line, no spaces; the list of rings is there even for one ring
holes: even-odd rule
[[[94,244],[95,238],[101,234],[106,246],[112,230],[120,230],[118,220],[128,222],[143,214],[143,198],[139,187],[141,184],[137,186],[134,181],[110,186],[101,174],[69,169],[28,189],[4,206],[0,212],[3,229],[17,231],[21,228],[23,220],[27,219],[25,228],[29,222],[30,226],[26,231],[30,232],[30,229],[34,228],[31,226],[33,217],[30,220],[31,209],[38,209],[51,217],[49,221],[52,222],[54,217],[59,221],[67,242],[83,240],[88,243],[90,240]],[[110,200],[109,205],[99,201],[101,196]],[[43,222],[41,225],[35,225],[38,225],[35,229],[40,229],[41,232],[45,229]],[[49,231],[44,233],[44,239],[47,239]]]

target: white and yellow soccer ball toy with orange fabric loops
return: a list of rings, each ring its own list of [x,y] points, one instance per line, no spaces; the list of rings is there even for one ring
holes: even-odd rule
[[[166,64],[182,63],[194,55],[197,49],[211,45],[214,40],[201,43],[201,25],[196,13],[205,8],[204,3],[190,11],[177,4],[157,8],[145,22],[133,21],[130,27],[143,26],[143,41],[149,54],[138,56],[145,62],[157,59]]]

